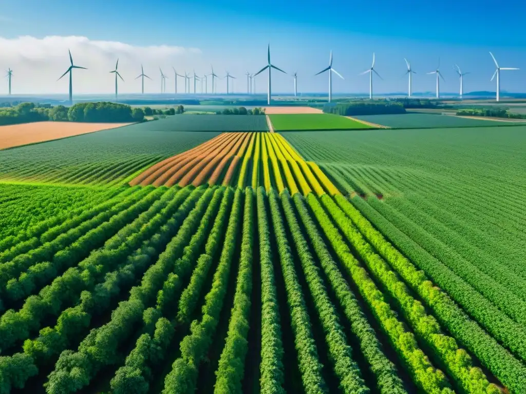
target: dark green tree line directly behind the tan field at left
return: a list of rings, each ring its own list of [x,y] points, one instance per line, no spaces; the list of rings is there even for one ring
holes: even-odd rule
[[[0,108],[0,126],[41,122],[140,122],[145,111],[114,102],[80,102],[72,107],[53,107],[34,102],[22,102],[14,107]]]

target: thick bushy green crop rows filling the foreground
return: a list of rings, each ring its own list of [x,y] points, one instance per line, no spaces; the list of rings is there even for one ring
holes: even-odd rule
[[[87,188],[53,189],[59,205]],[[522,356],[342,195],[135,186],[74,204],[0,249],[2,394],[526,389]]]

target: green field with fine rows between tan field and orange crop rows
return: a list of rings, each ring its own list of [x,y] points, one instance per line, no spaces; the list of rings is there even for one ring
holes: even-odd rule
[[[122,184],[151,164],[217,136],[144,129],[156,122],[0,151],[0,181]]]

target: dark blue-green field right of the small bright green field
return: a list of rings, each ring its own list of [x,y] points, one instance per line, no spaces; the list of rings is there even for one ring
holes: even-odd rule
[[[432,113],[403,113],[397,115],[359,115],[355,116],[354,118],[396,129],[436,129],[443,127],[493,127],[513,125],[513,123],[511,122],[459,118],[456,116],[448,115],[434,115]]]

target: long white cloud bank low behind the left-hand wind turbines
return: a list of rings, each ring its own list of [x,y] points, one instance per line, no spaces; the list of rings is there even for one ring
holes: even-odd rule
[[[73,94],[112,93],[115,91],[114,74],[119,59],[119,91],[139,92],[140,65],[144,65],[145,74],[153,80],[145,80],[145,91],[157,92],[160,89],[159,67],[168,76],[167,90],[173,85],[176,69],[190,70],[206,66],[198,48],[186,48],[172,45],[134,46],[116,41],[90,40],[79,36],[47,36],[35,38],[21,36],[17,38],[0,37],[0,70],[8,67],[13,70],[13,94],[64,93],[68,91],[68,78],[57,79],[70,65],[68,49],[71,50],[76,66],[87,70],[75,69],[73,72]],[[182,85],[181,81],[181,85]],[[7,81],[0,80],[0,96],[7,92]]]

